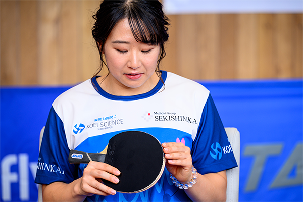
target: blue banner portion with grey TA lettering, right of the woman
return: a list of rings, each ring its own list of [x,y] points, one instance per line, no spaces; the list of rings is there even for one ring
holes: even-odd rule
[[[303,82],[200,82],[240,131],[239,201],[303,201]]]

